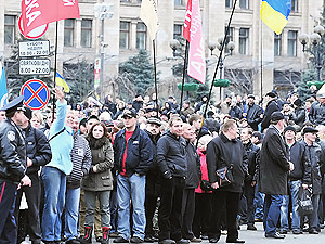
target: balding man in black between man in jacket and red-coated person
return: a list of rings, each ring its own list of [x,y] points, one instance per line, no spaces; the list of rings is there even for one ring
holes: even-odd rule
[[[195,189],[200,180],[200,160],[194,141],[196,139],[195,129],[190,124],[183,125],[183,138],[186,140],[186,160],[187,175],[185,180],[185,190],[183,194],[183,237],[191,242],[202,242],[194,236],[192,226],[195,211]]]

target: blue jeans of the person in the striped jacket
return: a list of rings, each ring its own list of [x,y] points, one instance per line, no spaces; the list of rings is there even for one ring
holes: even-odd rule
[[[80,188],[67,188],[65,197],[65,230],[66,241],[78,236]]]

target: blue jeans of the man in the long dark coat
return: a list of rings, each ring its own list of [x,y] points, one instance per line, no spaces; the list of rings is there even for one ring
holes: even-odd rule
[[[264,198],[264,231],[265,235],[276,232],[276,224],[280,217],[280,209],[283,203],[283,195],[265,194]]]

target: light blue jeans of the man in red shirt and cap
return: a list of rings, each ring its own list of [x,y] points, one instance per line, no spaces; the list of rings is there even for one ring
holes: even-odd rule
[[[133,236],[144,240],[145,231],[145,176],[117,176],[118,226],[117,231],[126,240],[130,239],[130,200],[133,206]]]

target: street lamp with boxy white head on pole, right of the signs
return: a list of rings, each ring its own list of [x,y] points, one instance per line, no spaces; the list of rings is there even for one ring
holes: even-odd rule
[[[113,4],[107,4],[102,0],[102,3],[94,4],[94,15],[96,18],[102,21],[102,33],[100,35],[101,38],[101,74],[100,74],[100,80],[101,80],[101,99],[103,98],[103,82],[104,82],[104,48],[108,44],[104,42],[104,33],[105,33],[105,18],[112,18],[113,17]]]

